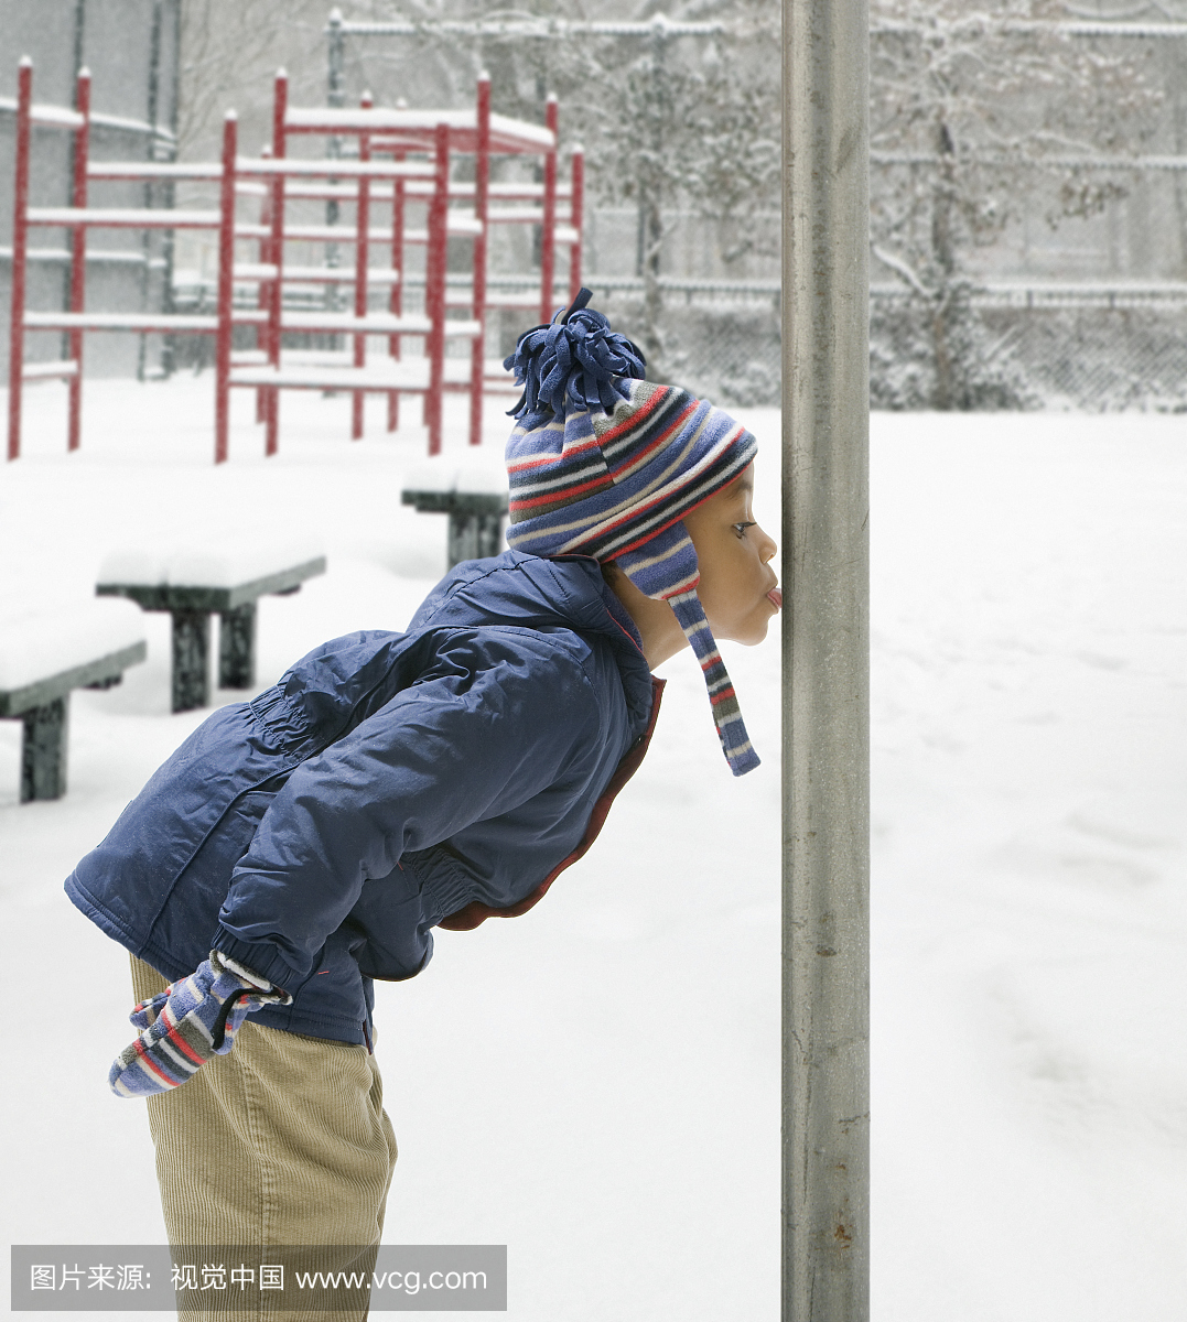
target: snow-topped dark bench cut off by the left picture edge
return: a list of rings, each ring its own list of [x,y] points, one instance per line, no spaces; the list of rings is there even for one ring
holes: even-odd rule
[[[70,693],[108,689],[145,657],[144,620],[123,602],[56,613],[5,612],[0,621],[0,717],[24,723],[21,802],[66,793]]]

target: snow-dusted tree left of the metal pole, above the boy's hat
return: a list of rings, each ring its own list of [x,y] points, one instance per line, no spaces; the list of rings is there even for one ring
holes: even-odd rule
[[[468,102],[479,69],[493,75],[494,108],[539,119],[545,97],[562,102],[562,134],[586,148],[591,197],[629,202],[640,215],[636,268],[644,279],[638,338],[664,371],[662,251],[677,209],[715,221],[735,260],[760,243],[748,223],[779,206],[779,16],[764,0],[674,5],[669,17],[714,19],[712,40],[671,37],[662,22],[640,38],[467,37],[436,20],[525,17],[646,21],[658,5],[623,0],[574,5],[537,0],[525,13],[469,0],[361,0],[352,16],[423,22],[411,37],[353,44],[350,82],[401,87],[414,103]],[[703,12],[702,12],[703,11]]]

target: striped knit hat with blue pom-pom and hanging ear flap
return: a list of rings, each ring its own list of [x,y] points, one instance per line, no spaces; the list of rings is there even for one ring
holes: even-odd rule
[[[508,545],[613,561],[669,603],[705,672],[730,769],[759,765],[705,608],[697,550],[681,522],[755,457],[755,438],[686,390],[644,381],[642,353],[615,334],[590,291],[504,362],[523,395],[508,442]]]

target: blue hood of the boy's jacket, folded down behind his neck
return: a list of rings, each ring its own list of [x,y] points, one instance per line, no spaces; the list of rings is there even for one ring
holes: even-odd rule
[[[428,594],[408,624],[427,628],[567,629],[604,637],[613,649],[632,723],[652,710],[652,674],[642,639],[590,555],[542,558],[504,551],[463,561]]]

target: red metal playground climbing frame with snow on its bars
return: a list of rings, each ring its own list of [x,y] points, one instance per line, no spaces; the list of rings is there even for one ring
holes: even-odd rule
[[[498,360],[484,357],[486,312],[492,308],[538,309],[549,320],[556,297],[556,247],[568,247],[570,297],[580,287],[583,157],[572,153],[568,188],[556,178],[556,102],[550,99],[546,124],[537,126],[494,115],[490,82],[482,75],[473,110],[387,110],[364,98],[357,110],[301,110],[288,106],[283,71],[275,82],[271,152],[238,155],[234,112],[223,123],[222,159],[209,164],[143,161],[93,164],[89,160],[90,79],[79,74],[77,111],[34,106],[33,69],[20,67],[16,134],[16,189],[12,262],[12,350],[9,368],[8,456],[20,453],[22,386],[26,381],[61,377],[70,391],[70,449],[81,442],[83,334],[91,330],[134,330],[213,334],[215,337],[214,459],[227,459],[230,391],[256,391],[256,416],[264,424],[266,453],[279,448],[280,394],[284,390],[344,391],[352,398],[352,436],[364,430],[366,394],[387,397],[387,426],[397,427],[399,397],[420,395],[428,427],[430,453],[441,448],[443,395],[469,397],[469,440],[481,442],[482,391],[506,382]],[[29,149],[33,124],[52,124],[74,139],[74,177],[69,208],[29,206]],[[289,155],[295,136],[323,135],[356,144],[346,157]],[[473,157],[473,180],[453,178],[455,163]],[[542,182],[492,182],[493,156],[542,159]],[[218,210],[177,208],[96,208],[89,205],[94,180],[194,180],[219,184]],[[262,200],[252,219],[237,214],[241,198]],[[296,200],[334,200],[353,206],[353,223],[300,225],[288,219]],[[568,201],[568,222],[558,222],[558,202]],[[426,206],[423,227],[406,223],[408,204]],[[496,204],[496,205],[492,205]],[[510,204],[510,205],[509,205]],[[517,205],[518,204],[518,205]],[[525,205],[526,204],[526,205]],[[381,222],[375,223],[377,214]],[[529,223],[541,227],[538,295],[494,293],[488,287],[492,225]],[[66,312],[29,312],[25,307],[29,230],[66,229],[71,234],[70,301]],[[90,229],[208,229],[218,233],[218,295],[213,316],[172,313],[103,313],[85,307],[86,237]],[[468,284],[447,280],[451,238],[468,241]],[[243,243],[254,245],[255,260],[242,260]],[[353,246],[353,271],[329,262],[300,266],[287,260],[291,245]],[[424,301],[410,312],[404,279],[410,247],[426,247]],[[386,263],[373,263],[375,249],[387,250]],[[296,309],[286,305],[286,283],[353,286],[349,311],[337,307]],[[255,287],[251,307],[235,307],[235,292]],[[387,290],[386,309],[374,308],[373,290]],[[455,315],[451,316],[451,312]],[[460,313],[460,315],[456,315]],[[237,349],[238,325],[255,328],[255,348]],[[67,357],[25,365],[24,336],[36,330],[65,330]],[[344,336],[350,348],[288,349],[292,334]],[[404,340],[419,340],[423,352],[410,354]],[[469,352],[449,357],[449,341],[468,341]],[[379,344],[382,352],[369,345]]]

